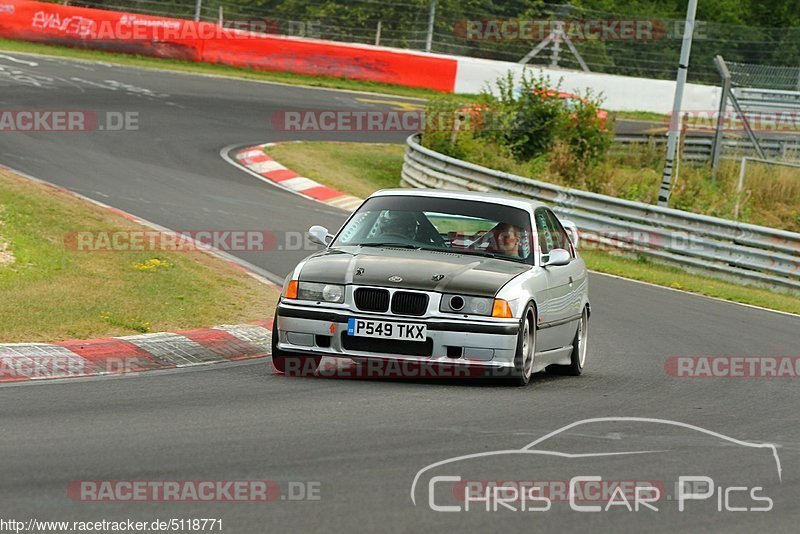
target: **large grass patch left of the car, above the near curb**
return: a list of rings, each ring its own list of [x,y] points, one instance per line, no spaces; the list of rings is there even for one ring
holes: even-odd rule
[[[0,341],[58,341],[263,319],[277,292],[200,251],[78,251],[74,232],[143,230],[0,171]]]

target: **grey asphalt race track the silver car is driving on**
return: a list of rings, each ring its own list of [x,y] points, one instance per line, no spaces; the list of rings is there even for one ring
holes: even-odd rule
[[[19,54],[0,56],[0,67],[0,108],[139,117],[138,131],[4,132],[0,163],[176,230],[281,234],[311,224],[338,227],[343,212],[256,180],[224,161],[220,150],[332,138],[275,131],[270,117],[282,110],[391,109],[394,104],[365,99],[402,100]],[[237,255],[282,277],[306,254]],[[665,362],[686,355],[798,356],[800,320],[612,277],[593,275],[590,283],[588,371],[579,378],[537,375],[526,389],[456,380],[290,379],[273,375],[263,362],[2,387],[0,518],[217,518],[223,532],[796,532],[797,379],[676,378],[665,372]],[[418,485],[412,502],[412,482],[431,463],[520,449],[565,425],[599,417],[658,418],[775,444],[781,478],[765,449],[631,421],[588,423],[547,444],[582,453],[655,452],[581,457],[578,463],[562,456],[496,456],[444,474],[469,480],[661,480],[673,497],[669,486],[677,475],[708,475],[719,487],[762,486],[774,506],[729,511],[741,502],[728,502],[717,488],[683,512],[674,499],[660,502],[658,512],[615,507],[589,513],[555,499],[548,511],[487,512],[475,505],[477,510],[450,513],[431,510],[427,482]],[[283,497],[293,485],[313,488],[319,499],[79,502],[67,487],[82,480],[271,480]]]

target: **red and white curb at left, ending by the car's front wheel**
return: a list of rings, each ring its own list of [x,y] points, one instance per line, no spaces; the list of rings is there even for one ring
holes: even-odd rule
[[[138,373],[269,356],[270,321],[57,343],[0,344],[0,383]]]

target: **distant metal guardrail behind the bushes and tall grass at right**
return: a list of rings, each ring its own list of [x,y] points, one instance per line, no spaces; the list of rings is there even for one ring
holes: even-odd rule
[[[612,154],[623,153],[631,146],[644,146],[649,143],[663,144],[665,135],[618,135],[614,137]],[[682,159],[707,162],[711,160],[714,138],[711,136],[687,135],[681,140]],[[759,139],[764,154],[770,159],[800,160],[800,137],[781,139]],[[722,158],[740,160],[743,156],[756,156],[753,144],[747,139],[726,138],[722,141]]]

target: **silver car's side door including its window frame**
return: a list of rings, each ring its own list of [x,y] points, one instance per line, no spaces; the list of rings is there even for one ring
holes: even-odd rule
[[[537,342],[537,350],[545,351],[565,347],[572,342],[580,317],[580,303],[576,305],[576,280],[583,275],[580,262],[576,261],[575,249],[555,214],[547,208],[539,208],[534,212],[534,218],[542,265],[549,260],[550,251],[557,248],[569,251],[572,257],[567,265],[545,268],[547,296],[539,311]]]

